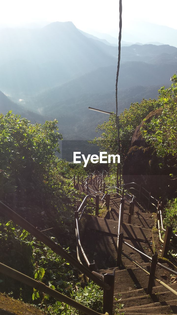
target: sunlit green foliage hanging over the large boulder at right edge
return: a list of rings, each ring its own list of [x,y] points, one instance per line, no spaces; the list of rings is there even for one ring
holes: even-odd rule
[[[172,85],[159,90],[162,114],[153,117],[142,129],[144,138],[153,146],[159,157],[168,156],[168,166],[177,168],[177,75],[171,77]],[[173,177],[174,174],[170,174]],[[175,180],[175,178],[173,178]]]

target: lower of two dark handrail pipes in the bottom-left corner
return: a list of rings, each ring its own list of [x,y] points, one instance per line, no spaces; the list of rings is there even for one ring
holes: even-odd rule
[[[13,278],[17,281],[24,283],[24,284],[27,284],[32,288],[35,288],[37,291],[44,292],[44,293],[52,296],[57,301],[64,302],[64,303],[66,303],[66,304],[68,304],[68,305],[76,308],[77,310],[84,312],[88,315],[102,315],[101,313],[95,312],[95,311],[91,310],[90,308],[88,308],[87,306],[84,306],[84,305],[80,304],[79,302],[72,300],[68,296],[66,296],[66,295],[64,295],[64,294],[62,294],[62,293],[60,293],[60,292],[58,292],[52,288],[49,288],[43,282],[34,280],[34,279],[26,276],[25,274],[23,274],[17,270],[14,270],[14,269],[12,269],[12,268],[10,268],[10,267],[2,264],[2,263],[0,263],[0,272],[5,274],[6,276],[9,276],[10,278]],[[105,313],[105,315],[109,315],[109,314]]]

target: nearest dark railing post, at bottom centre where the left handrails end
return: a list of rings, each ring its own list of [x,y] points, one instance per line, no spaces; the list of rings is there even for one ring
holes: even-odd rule
[[[107,312],[109,315],[113,315],[115,269],[112,274],[104,274],[104,282],[109,284],[111,289],[103,291],[103,314]]]

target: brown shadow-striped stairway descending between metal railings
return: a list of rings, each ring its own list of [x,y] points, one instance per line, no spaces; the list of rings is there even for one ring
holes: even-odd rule
[[[93,186],[90,186],[94,189]],[[117,260],[117,228],[119,221],[120,198],[111,199],[111,210],[103,217],[88,215],[83,216],[82,244],[90,261],[95,264],[100,273],[112,273]],[[134,206],[134,215],[131,224],[128,224],[128,206],[130,200],[125,198],[123,224],[121,232],[130,245],[152,257],[152,227],[155,219],[153,214],[146,213]],[[123,252],[134,261],[138,262],[147,271],[150,271],[149,260],[133,249],[123,244]],[[163,263],[169,266],[167,263]],[[171,284],[170,272],[159,266],[156,268],[157,278],[177,290],[177,283]],[[129,314],[177,314],[176,296],[154,281],[151,295],[146,294],[149,276],[132,261],[122,255],[121,267],[115,268],[115,309],[119,313]],[[118,301],[118,302],[117,302]]]

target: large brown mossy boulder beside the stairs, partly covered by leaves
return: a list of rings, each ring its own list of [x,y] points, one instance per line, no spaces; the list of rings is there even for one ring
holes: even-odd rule
[[[158,117],[161,113],[162,109],[159,108],[148,114],[145,121],[150,122],[152,117]],[[123,164],[124,183],[141,184],[153,197],[162,197],[163,200],[174,197],[177,184],[169,174],[175,175],[176,169],[167,166],[170,157],[157,157],[154,147],[146,143],[140,130],[143,124],[136,128]]]

